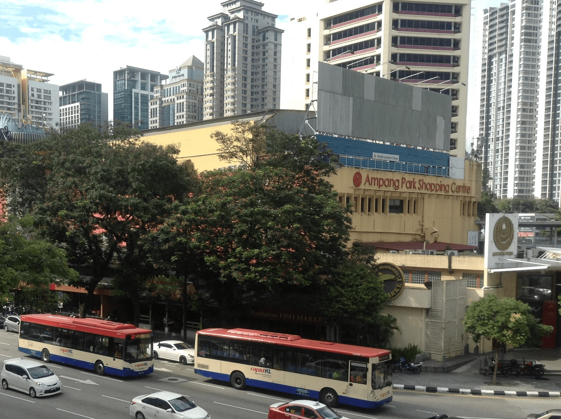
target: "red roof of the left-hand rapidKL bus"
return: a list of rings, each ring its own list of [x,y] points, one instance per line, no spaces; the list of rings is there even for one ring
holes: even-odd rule
[[[124,338],[125,335],[152,333],[151,330],[137,328],[134,324],[91,318],[76,319],[76,317],[58,316],[56,314],[25,314],[21,316],[21,321],[80,330],[114,338]]]

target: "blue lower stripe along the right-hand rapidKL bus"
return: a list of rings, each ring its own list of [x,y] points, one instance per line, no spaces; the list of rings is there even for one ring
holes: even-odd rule
[[[221,372],[213,372],[213,371],[207,371],[207,370],[200,370],[200,369],[195,369],[195,374],[199,374],[202,375],[204,377],[208,377],[208,378],[212,378],[215,380],[220,380],[220,381],[230,381],[230,376],[228,374],[222,374]],[[311,399],[319,399],[319,392],[315,391],[315,390],[304,390],[304,392],[302,392],[303,389],[298,389],[297,387],[291,386],[291,385],[286,385],[286,384],[279,384],[279,383],[271,383],[270,381],[261,381],[261,380],[255,380],[255,379],[251,379],[251,378],[247,378],[246,377],[246,384],[252,387],[259,387],[262,389],[268,389],[268,390],[274,390],[275,392],[281,392],[281,393],[288,393],[288,394],[295,394],[298,396],[305,396]],[[375,407],[380,407],[383,406],[384,404],[388,404],[389,402],[392,401],[392,397],[388,397],[386,399],[383,400],[378,400],[378,401],[371,401],[371,400],[362,400],[362,399],[356,399],[353,397],[348,397],[348,396],[344,396],[344,395],[339,395],[339,403],[341,404],[348,404],[349,406],[356,406],[356,407],[364,407],[367,409],[372,409]]]

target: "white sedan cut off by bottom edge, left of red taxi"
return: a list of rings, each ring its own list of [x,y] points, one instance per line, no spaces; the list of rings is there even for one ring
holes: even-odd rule
[[[172,392],[157,392],[135,397],[128,408],[135,419],[210,419],[205,409],[191,402],[184,395]]]

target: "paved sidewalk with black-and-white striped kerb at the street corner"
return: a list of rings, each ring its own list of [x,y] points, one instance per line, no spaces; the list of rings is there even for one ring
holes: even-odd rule
[[[504,360],[525,358],[541,362],[545,365],[546,372],[539,379],[527,375],[498,375],[495,385],[492,384],[492,375],[484,376],[480,372],[484,367],[483,358],[484,356],[463,355],[444,362],[423,361],[420,374],[394,372],[394,389],[427,393],[561,397],[561,349],[513,349],[506,353],[499,352],[499,358]]]

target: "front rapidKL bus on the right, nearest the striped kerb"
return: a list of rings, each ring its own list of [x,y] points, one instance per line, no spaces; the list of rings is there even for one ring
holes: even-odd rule
[[[374,408],[392,401],[392,354],[248,329],[197,331],[195,373],[246,385]]]

